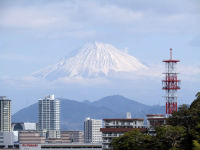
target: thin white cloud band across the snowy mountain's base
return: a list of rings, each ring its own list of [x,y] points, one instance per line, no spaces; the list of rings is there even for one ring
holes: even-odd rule
[[[11,87],[40,87],[40,88],[48,88],[48,87],[65,87],[66,85],[83,85],[86,87],[92,87],[96,85],[109,85],[112,86],[113,84],[120,83],[123,81],[130,81],[130,82],[140,82],[144,83],[146,80],[152,81],[160,81],[164,76],[162,75],[164,72],[162,65],[149,65],[148,70],[144,72],[129,72],[123,73],[119,72],[116,74],[109,75],[108,77],[97,77],[97,78],[83,78],[83,77],[64,77],[59,78],[54,81],[48,81],[46,79],[36,78],[31,75],[23,76],[21,78],[14,78],[9,76],[0,77],[1,83],[11,86]],[[180,73],[180,79],[184,82],[200,82],[200,67],[198,66],[179,66],[178,72]]]

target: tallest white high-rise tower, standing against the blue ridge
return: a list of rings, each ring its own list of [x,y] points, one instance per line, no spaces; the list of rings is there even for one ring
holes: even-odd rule
[[[39,130],[46,132],[47,138],[60,138],[60,101],[54,95],[39,99]]]

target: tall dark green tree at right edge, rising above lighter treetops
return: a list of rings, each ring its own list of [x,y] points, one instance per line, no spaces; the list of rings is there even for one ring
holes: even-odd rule
[[[167,119],[167,124],[186,128],[186,135],[182,145],[185,150],[191,150],[193,140],[200,142],[200,92],[190,107],[182,105],[177,112]]]

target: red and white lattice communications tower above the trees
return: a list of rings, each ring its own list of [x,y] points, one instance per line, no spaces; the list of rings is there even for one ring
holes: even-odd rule
[[[163,60],[165,63],[165,78],[162,80],[162,89],[166,91],[166,116],[171,115],[177,111],[177,90],[180,89],[180,82],[178,80],[178,73],[176,72],[176,64],[179,60],[172,59],[172,48],[170,48],[170,59]]]

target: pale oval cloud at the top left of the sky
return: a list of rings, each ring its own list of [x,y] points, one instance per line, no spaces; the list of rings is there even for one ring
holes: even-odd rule
[[[40,29],[46,27],[57,27],[66,23],[66,19],[56,15],[50,15],[36,8],[15,8],[6,11],[1,16],[1,25],[13,28]]]

